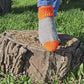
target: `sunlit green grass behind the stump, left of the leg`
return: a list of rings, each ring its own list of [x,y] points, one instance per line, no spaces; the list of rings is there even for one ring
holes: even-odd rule
[[[0,33],[12,29],[38,29],[36,0],[13,0],[11,13],[0,16]]]

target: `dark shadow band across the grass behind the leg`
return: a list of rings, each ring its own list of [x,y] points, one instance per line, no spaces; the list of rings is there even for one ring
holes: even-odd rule
[[[64,4],[60,4],[59,7],[59,11],[68,11],[70,9],[77,9],[80,8],[81,10],[84,10],[84,1],[76,1],[76,2],[70,2],[70,3],[64,3]],[[29,5],[29,6],[24,6],[24,7],[15,7],[12,8],[11,12],[15,13],[15,14],[20,14],[23,13],[25,11],[31,11],[31,12],[36,12],[38,11],[37,8],[37,4],[35,5]]]

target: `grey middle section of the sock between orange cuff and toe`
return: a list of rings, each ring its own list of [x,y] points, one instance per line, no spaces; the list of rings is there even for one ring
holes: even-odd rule
[[[42,45],[47,41],[59,40],[55,22],[52,17],[46,17],[39,20],[39,40]]]

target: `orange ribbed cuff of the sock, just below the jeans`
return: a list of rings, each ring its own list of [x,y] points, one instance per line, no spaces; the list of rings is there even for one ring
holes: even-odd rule
[[[38,18],[39,20],[45,18],[45,17],[53,17],[53,7],[52,6],[41,6],[38,8]]]

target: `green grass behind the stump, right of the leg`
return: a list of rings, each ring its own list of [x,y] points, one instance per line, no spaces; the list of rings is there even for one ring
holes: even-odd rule
[[[72,35],[84,42],[84,1],[60,5],[55,19],[58,32]]]

